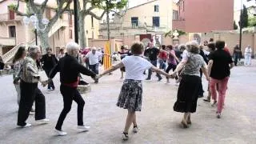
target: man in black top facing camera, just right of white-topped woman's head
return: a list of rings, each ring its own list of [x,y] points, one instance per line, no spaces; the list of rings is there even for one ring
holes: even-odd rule
[[[149,42],[149,48],[145,50],[145,54],[148,55],[150,62],[153,66],[158,66],[158,54],[160,53],[160,50],[158,48],[154,47],[154,44],[152,42]],[[152,75],[152,70],[149,70],[148,77],[146,80],[150,80]],[[160,74],[157,73],[158,81],[162,80],[162,77]]]

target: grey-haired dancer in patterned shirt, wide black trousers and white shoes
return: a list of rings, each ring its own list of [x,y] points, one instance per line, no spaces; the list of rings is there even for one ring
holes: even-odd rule
[[[42,82],[36,60],[40,58],[40,49],[38,46],[30,46],[28,56],[22,63],[21,70],[21,100],[18,106],[18,123],[19,127],[29,127],[26,123],[30,110],[35,101],[34,118],[37,122],[49,122],[46,119],[46,99],[41,90],[38,89],[38,82]],[[42,82],[44,84],[44,82]]]

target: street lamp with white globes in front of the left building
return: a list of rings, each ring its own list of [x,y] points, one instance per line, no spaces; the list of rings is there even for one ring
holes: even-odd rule
[[[38,45],[38,32],[37,32],[37,30],[40,30],[40,31],[46,30],[46,26],[48,25],[49,20],[47,18],[42,18],[42,24],[44,26],[43,29],[41,29],[40,26],[38,25],[39,22],[38,22],[38,17],[37,17],[36,14],[31,15],[30,18],[24,16],[23,17],[23,22],[26,26],[28,26],[30,24],[30,22],[33,24],[34,34],[35,34],[35,44]]]

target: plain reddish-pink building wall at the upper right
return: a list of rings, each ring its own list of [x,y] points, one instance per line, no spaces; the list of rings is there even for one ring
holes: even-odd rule
[[[182,1],[181,1],[182,2]],[[190,33],[212,30],[233,30],[234,0],[185,0],[185,31]]]

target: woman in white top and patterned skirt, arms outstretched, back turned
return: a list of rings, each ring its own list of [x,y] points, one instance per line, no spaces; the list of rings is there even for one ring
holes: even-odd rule
[[[159,70],[157,67],[153,66],[150,62],[148,62],[145,58],[142,58],[140,55],[143,53],[143,51],[143,44],[140,42],[135,42],[131,46],[131,53],[133,55],[126,56],[126,58],[123,58],[122,61],[116,66],[113,66],[112,68],[104,71],[98,76],[98,78],[101,78],[103,75],[109,74],[114,70],[118,70],[123,66],[126,67],[126,78],[123,82],[117,103],[117,106],[128,110],[128,114],[126,117],[126,126],[122,134],[123,140],[128,140],[128,131],[132,123],[134,124],[134,133],[138,132],[135,112],[142,110],[142,80],[144,79],[143,72],[147,69],[151,69],[158,74],[163,74],[166,77],[171,78],[169,74],[166,74],[162,70]]]

